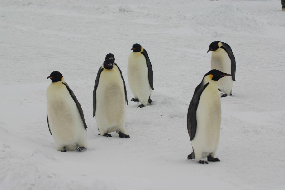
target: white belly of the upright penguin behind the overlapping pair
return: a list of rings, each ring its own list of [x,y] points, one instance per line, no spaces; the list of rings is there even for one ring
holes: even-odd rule
[[[128,82],[135,98],[144,105],[148,105],[151,87],[148,81],[146,59],[141,52],[131,52],[128,59]]]

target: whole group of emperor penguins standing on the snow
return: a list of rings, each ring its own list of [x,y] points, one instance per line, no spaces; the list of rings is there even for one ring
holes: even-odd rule
[[[131,101],[140,102],[138,108],[152,102],[150,93],[153,88],[153,71],[150,59],[140,44],[134,44],[128,58],[128,82],[134,97]],[[235,57],[228,44],[215,41],[209,46],[211,70],[206,73],[196,87],[187,114],[188,134],[192,153],[188,159],[201,160],[207,157],[210,162],[215,158],[219,143],[221,126],[221,97],[232,95],[235,81]],[[73,91],[64,81],[62,74],[53,71],[47,79],[51,83],[46,89],[47,121],[56,149],[84,151],[87,149],[87,125],[83,110]],[[113,54],[107,54],[99,68],[93,90],[93,117],[95,116],[99,135],[112,137],[117,132],[121,138],[130,138],[125,130],[127,90],[122,71],[115,63]]]

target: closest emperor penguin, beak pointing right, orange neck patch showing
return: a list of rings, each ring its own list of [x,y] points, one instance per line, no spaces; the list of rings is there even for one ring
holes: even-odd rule
[[[193,152],[188,159],[200,160],[207,156],[208,161],[220,161],[214,158],[218,148],[221,128],[221,101],[217,89],[217,81],[222,77],[231,76],[219,70],[211,70],[203,77],[196,87],[187,114],[187,128]]]

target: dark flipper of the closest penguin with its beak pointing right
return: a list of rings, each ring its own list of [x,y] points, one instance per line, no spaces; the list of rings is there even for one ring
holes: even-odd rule
[[[209,83],[203,86],[201,82],[195,89],[192,100],[190,102],[188,113],[187,113],[187,129],[190,140],[193,140],[196,135],[197,130],[197,118],[196,118],[196,111],[199,105],[199,100],[202,92],[208,86]]]

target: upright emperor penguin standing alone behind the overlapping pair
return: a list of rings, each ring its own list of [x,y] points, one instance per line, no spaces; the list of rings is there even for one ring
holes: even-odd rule
[[[148,54],[140,44],[134,44],[128,59],[128,82],[134,98],[131,101],[141,102],[139,107],[151,103],[151,90],[153,90],[153,72]]]

